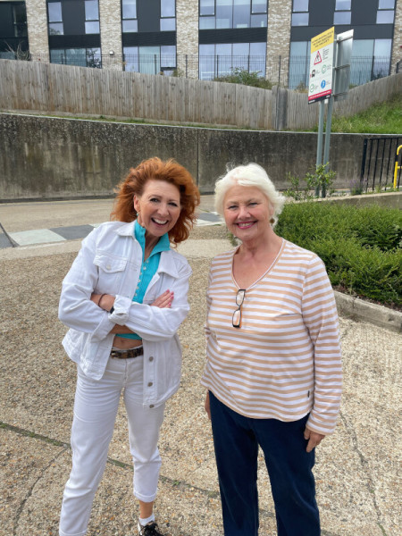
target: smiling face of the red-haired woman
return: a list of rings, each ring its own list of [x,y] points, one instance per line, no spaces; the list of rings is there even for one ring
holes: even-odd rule
[[[180,216],[180,191],[165,180],[147,180],[141,196],[134,194],[138,223],[148,238],[160,238],[176,225]]]

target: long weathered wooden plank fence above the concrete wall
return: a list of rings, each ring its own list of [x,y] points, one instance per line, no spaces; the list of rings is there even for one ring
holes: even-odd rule
[[[399,73],[354,88],[335,113],[356,113],[385,100],[401,81]],[[13,60],[0,60],[0,109],[257,130],[302,130],[318,121],[318,106],[289,89]]]

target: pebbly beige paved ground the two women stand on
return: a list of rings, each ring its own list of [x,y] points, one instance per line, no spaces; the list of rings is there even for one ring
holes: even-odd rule
[[[204,199],[203,212],[213,210]],[[80,247],[64,228],[91,226],[110,200],[0,205],[7,232],[60,230],[61,242],[0,251],[0,536],[56,536],[71,465],[75,370],[57,320],[61,282]],[[180,251],[193,268],[188,319],[180,328],[183,374],[166,406],[156,514],[169,536],[222,535],[210,424],[199,379],[210,258],[230,248],[223,225],[198,226]],[[317,500],[325,536],[399,536],[401,336],[340,319],[344,394],[335,434],[317,448]],[[137,506],[121,405],[88,536],[132,536]],[[260,534],[276,534],[272,496],[259,460]],[[303,532],[300,532],[302,536]],[[292,535],[293,536],[293,535]],[[295,535],[299,536],[299,535]]]

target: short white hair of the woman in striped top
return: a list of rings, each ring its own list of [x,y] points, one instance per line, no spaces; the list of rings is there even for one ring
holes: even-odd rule
[[[230,188],[236,184],[244,187],[255,187],[262,191],[268,197],[272,207],[272,226],[278,222],[278,216],[281,214],[285,197],[282,196],[274,187],[272,180],[268,177],[264,168],[257,163],[247,163],[229,169],[226,175],[221,177],[215,183],[215,209],[218,214],[223,216],[223,201]]]

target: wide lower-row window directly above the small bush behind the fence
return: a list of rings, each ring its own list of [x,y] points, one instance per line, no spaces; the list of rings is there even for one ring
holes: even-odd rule
[[[265,76],[266,43],[200,45],[198,52],[200,80],[227,76],[235,69]]]

